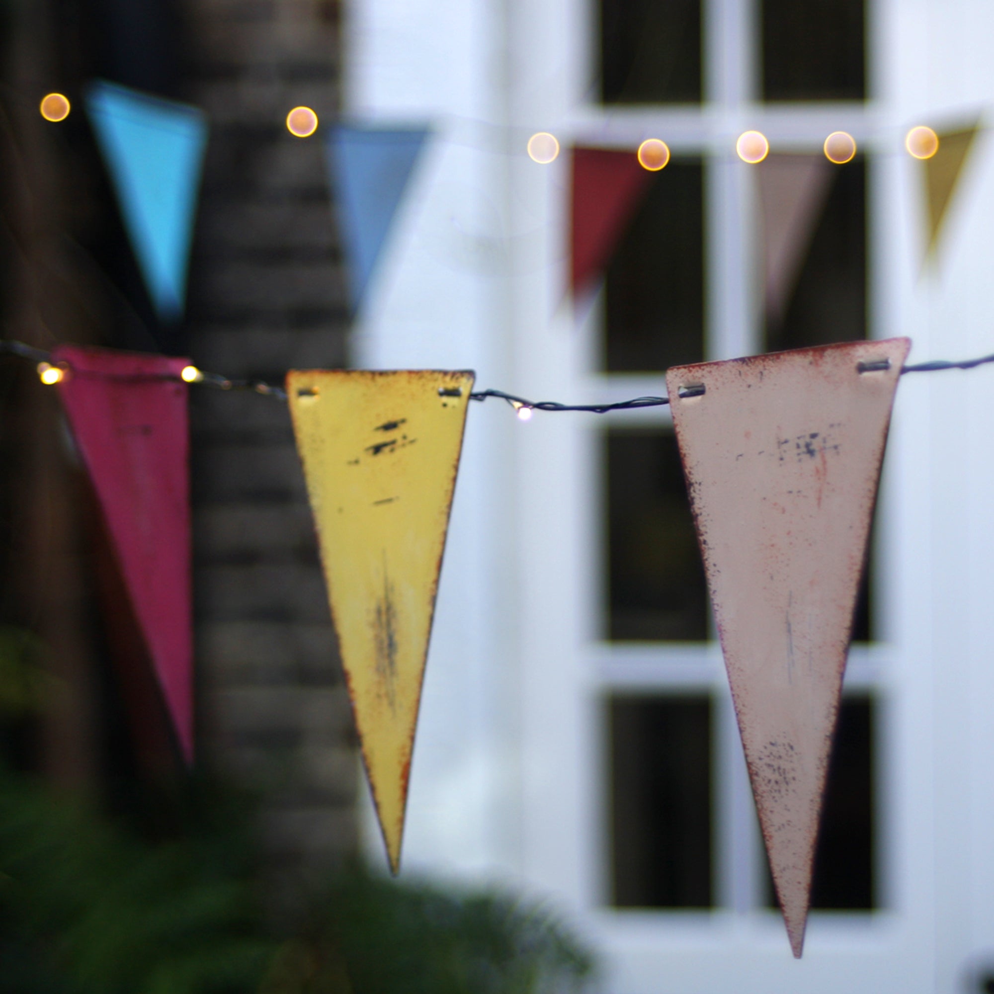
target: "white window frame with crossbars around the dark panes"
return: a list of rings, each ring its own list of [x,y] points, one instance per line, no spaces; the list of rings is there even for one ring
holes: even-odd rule
[[[512,83],[517,118],[555,130],[564,147],[571,144],[634,149],[649,136],[661,137],[674,155],[705,159],[707,246],[706,349],[708,359],[726,359],[762,351],[759,301],[753,266],[759,257],[751,244],[755,231],[753,177],[734,154],[735,140],[746,128],[770,139],[775,151],[820,154],[825,136],[849,131],[868,170],[868,326],[872,337],[900,333],[888,290],[897,280],[897,263],[884,257],[887,236],[894,237],[893,185],[896,163],[885,148],[882,124],[895,122],[880,101],[770,104],[756,102],[758,9],[752,0],[705,0],[705,102],[688,106],[603,106],[593,102],[596,79],[596,5],[572,7],[547,0],[541,16],[512,20],[512,50],[520,50],[522,68]],[[535,14],[532,5],[532,14]],[[875,41],[883,3],[868,0],[868,90],[880,83]],[[535,23],[546,33],[536,33]],[[541,70],[567,67],[572,81],[562,91],[542,90]],[[585,94],[585,96],[584,96]],[[536,108],[545,111],[540,116]],[[527,111],[527,117],[525,113]],[[883,136],[883,137],[882,137]],[[878,158],[875,153],[884,153]],[[531,165],[531,164],[528,164]],[[552,176],[534,167],[512,169],[519,218],[544,216],[550,221],[549,266],[543,278],[521,280],[515,294],[516,384],[525,396],[542,394],[572,403],[619,401],[665,392],[662,375],[606,375],[594,369],[600,309],[596,300],[571,313],[562,305],[569,258],[567,165]],[[663,173],[660,182],[665,182]],[[524,193],[523,193],[524,192]],[[552,313],[548,321],[542,316]],[[537,317],[537,315],[539,315]],[[555,394],[554,394],[555,391]],[[666,409],[608,415],[612,425],[671,423]],[[571,904],[598,945],[608,950],[615,980],[611,990],[659,990],[658,971],[683,977],[674,990],[711,990],[702,978],[727,979],[735,964],[740,990],[792,990],[789,974],[777,970],[789,960],[780,917],[761,907],[760,842],[745,774],[745,762],[730,701],[720,648],[707,644],[636,644],[599,641],[605,601],[601,562],[602,509],[596,494],[599,434],[605,424],[596,415],[540,418],[522,431],[519,468],[523,500],[518,562],[522,568],[522,670],[528,674],[523,695],[525,794],[524,871]],[[882,506],[894,510],[894,488],[885,486]],[[554,509],[543,494],[554,492]],[[893,517],[893,515],[891,515]],[[878,535],[880,560],[892,569],[898,557],[888,547],[885,525]],[[542,555],[536,552],[542,550]],[[554,552],[554,550],[558,552]],[[893,719],[901,687],[895,674],[906,665],[890,635],[895,630],[896,593],[877,593],[875,630],[880,641],[856,646],[850,653],[845,686],[869,694],[875,707],[875,854],[879,911],[812,912],[806,960],[831,948],[842,973],[862,973],[852,990],[882,989],[887,978],[911,977],[925,946],[909,941],[911,932],[898,922],[906,898],[896,893],[900,850],[884,840],[898,832],[898,772],[904,758],[898,746],[901,723]],[[578,606],[579,605],[579,606]],[[607,697],[615,691],[635,694],[704,692],[715,702],[716,794],[713,812],[717,838],[714,911],[633,911],[606,907],[609,894],[609,812],[604,727]],[[905,804],[907,811],[907,804]],[[907,919],[904,921],[908,923]],[[899,955],[896,951],[904,946]],[[815,951],[812,952],[812,949]],[[726,971],[726,972],[723,972]],[[824,989],[842,989],[837,974]],[[854,974],[855,975],[855,974]],[[782,986],[781,986],[782,984]],[[877,986],[875,986],[877,985]],[[667,986],[666,989],[670,989]],[[815,985],[817,987],[817,985]],[[912,984],[912,986],[914,986]],[[732,989],[732,988],[728,988]],[[805,988],[808,989],[808,988]],[[917,988],[915,988],[917,989]]]

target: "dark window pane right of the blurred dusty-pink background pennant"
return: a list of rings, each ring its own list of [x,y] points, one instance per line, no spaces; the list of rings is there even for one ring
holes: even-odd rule
[[[783,319],[767,316],[767,352],[866,338],[866,233],[866,163],[858,158],[834,169]]]

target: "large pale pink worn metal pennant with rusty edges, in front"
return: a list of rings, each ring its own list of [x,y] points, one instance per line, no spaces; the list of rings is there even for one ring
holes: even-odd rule
[[[910,344],[830,345],[666,375],[795,956],[891,407]]]

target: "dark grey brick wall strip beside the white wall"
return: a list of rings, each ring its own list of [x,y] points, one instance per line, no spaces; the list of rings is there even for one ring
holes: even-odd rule
[[[324,0],[187,0],[191,95],[211,121],[191,277],[192,357],[279,381],[345,363],[344,275],[321,130],[287,111],[338,103],[339,14]],[[357,764],[285,404],[194,391],[199,729],[208,760],[265,805],[270,853],[355,846]]]

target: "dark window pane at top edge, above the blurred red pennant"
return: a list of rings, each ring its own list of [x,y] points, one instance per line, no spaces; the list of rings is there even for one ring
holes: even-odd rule
[[[699,101],[700,0],[600,0],[600,97]]]

